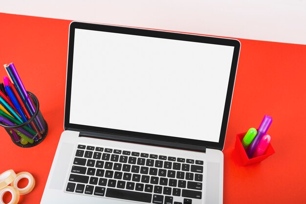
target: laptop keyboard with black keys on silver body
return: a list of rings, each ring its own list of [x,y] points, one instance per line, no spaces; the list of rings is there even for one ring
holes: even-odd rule
[[[66,192],[153,204],[197,204],[203,160],[79,144]]]

